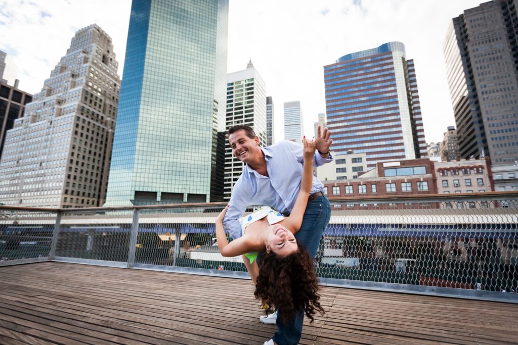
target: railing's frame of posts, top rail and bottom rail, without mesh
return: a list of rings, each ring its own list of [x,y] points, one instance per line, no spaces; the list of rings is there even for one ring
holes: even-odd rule
[[[367,198],[336,198],[330,197],[329,201],[333,204],[365,204],[365,203],[415,203],[415,202],[426,202],[426,203],[445,203],[445,202],[487,202],[487,201],[501,201],[501,200],[518,200],[517,192],[485,192],[485,193],[463,193],[463,194],[433,194],[433,195],[419,195],[419,196],[407,196],[407,197],[367,197]],[[165,272],[176,272],[186,273],[195,275],[207,275],[207,276],[219,276],[239,279],[250,279],[248,273],[237,272],[237,271],[218,271],[217,269],[206,269],[206,268],[193,268],[193,267],[180,267],[175,265],[153,265],[153,264],[142,264],[135,263],[135,253],[137,244],[137,235],[139,228],[139,219],[141,212],[149,211],[160,211],[160,210],[174,210],[183,208],[214,208],[222,209],[226,203],[193,203],[193,204],[173,204],[173,205],[147,205],[147,206],[133,206],[133,207],[91,207],[91,208],[34,208],[34,207],[16,207],[16,206],[0,206],[1,211],[26,211],[26,212],[38,212],[38,213],[51,213],[55,214],[55,224],[52,232],[52,241],[48,257],[40,258],[26,258],[18,260],[0,261],[1,266],[26,264],[44,261],[61,261],[71,262],[80,264],[93,264],[103,265],[112,267],[122,268],[133,268],[133,269],[151,269],[155,271]],[[61,219],[64,213],[92,213],[92,212],[117,212],[117,211],[132,211],[132,227],[130,235],[130,244],[128,247],[127,262],[119,261],[106,261],[106,260],[90,260],[70,257],[56,257],[56,246],[61,229]],[[214,214],[215,215],[215,214]],[[180,241],[176,241],[175,245]],[[176,260],[176,258],[175,258]],[[346,279],[334,279],[334,278],[320,278],[320,282],[324,286],[333,286],[341,288],[355,288],[365,290],[377,290],[377,291],[390,291],[390,292],[404,292],[413,294],[424,294],[424,295],[440,295],[449,297],[459,298],[470,298],[470,299],[484,299],[488,301],[499,301],[508,303],[518,303],[517,293],[500,293],[494,291],[477,291],[469,289],[457,289],[457,288],[442,288],[432,286],[420,286],[411,284],[399,284],[399,283],[385,283],[376,281],[363,281],[363,280],[346,280]]]

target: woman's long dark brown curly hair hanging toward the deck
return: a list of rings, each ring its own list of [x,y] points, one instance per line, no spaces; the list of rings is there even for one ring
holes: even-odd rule
[[[308,251],[304,246],[298,247],[295,253],[284,258],[274,252],[262,256],[254,295],[267,306],[267,313],[275,306],[284,322],[293,318],[299,309],[304,309],[313,322],[317,310],[324,314],[319,302],[319,279]]]

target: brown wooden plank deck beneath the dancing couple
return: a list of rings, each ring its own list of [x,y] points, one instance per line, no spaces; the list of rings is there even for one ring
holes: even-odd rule
[[[301,344],[518,341],[518,306],[323,288]],[[0,267],[2,344],[262,344],[251,281],[42,262]]]

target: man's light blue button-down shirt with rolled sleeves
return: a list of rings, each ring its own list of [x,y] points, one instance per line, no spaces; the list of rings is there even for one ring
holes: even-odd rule
[[[248,164],[245,165],[241,177],[234,186],[230,206],[223,219],[223,226],[233,238],[241,237],[241,224],[238,219],[247,206],[271,206],[287,215],[292,212],[297,199],[304,164],[303,146],[293,141],[281,141],[261,149],[266,160],[268,176],[257,173]],[[319,167],[332,160],[331,155],[326,159],[315,152],[313,166]],[[313,176],[309,194],[322,190],[322,183]]]

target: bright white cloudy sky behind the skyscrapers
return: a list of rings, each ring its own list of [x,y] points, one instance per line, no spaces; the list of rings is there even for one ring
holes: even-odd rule
[[[230,0],[228,72],[249,59],[274,101],[275,141],[284,139],[283,104],[300,100],[304,134],[325,112],[323,66],[383,43],[405,44],[414,59],[427,142],[440,142],[455,120],[442,45],[452,18],[480,0]],[[130,0],[0,0],[4,79],[39,92],[75,32],[96,23],[111,36],[124,67]]]

